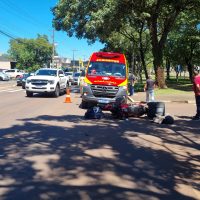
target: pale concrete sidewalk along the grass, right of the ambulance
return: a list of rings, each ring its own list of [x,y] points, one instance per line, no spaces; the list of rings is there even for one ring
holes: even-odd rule
[[[135,102],[145,102],[146,101],[146,93],[145,92],[136,92],[133,96],[131,96]],[[180,103],[195,103],[195,97],[193,92],[188,92],[186,94],[155,94],[155,101],[162,102],[180,102]]]

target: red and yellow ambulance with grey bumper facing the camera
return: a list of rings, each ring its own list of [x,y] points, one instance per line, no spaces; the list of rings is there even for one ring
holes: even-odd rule
[[[82,107],[127,100],[128,69],[124,54],[95,52],[91,55],[82,88]]]

